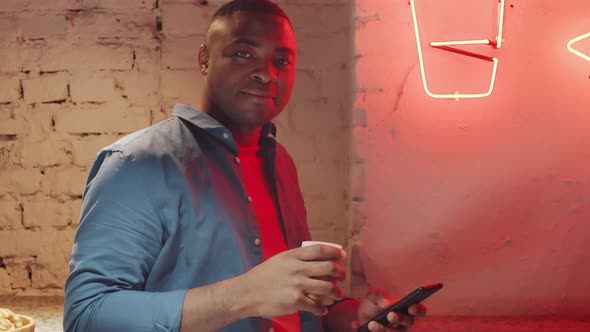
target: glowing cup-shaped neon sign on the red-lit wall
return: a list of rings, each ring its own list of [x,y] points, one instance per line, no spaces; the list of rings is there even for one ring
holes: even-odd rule
[[[483,98],[487,97],[492,94],[494,90],[494,84],[496,82],[496,72],[498,70],[498,59],[496,57],[490,57],[482,54],[477,54],[469,51],[465,51],[454,46],[464,46],[464,45],[490,45],[491,47],[498,49],[502,46],[502,33],[504,29],[504,4],[505,0],[500,0],[498,4],[498,34],[496,35],[495,40],[490,39],[478,39],[478,40],[457,40],[457,41],[444,41],[444,42],[430,42],[429,45],[434,48],[438,48],[444,51],[457,53],[460,55],[472,57],[479,60],[489,61],[493,64],[492,67],[492,78],[490,79],[490,85],[486,92],[482,93],[459,93],[455,91],[454,93],[433,93],[428,88],[428,84],[426,82],[426,73],[424,70],[424,57],[422,55],[422,45],[420,39],[420,32],[418,30],[418,19],[416,16],[416,6],[414,4],[414,0],[410,0],[410,6],[412,8],[412,18],[414,21],[414,32],[416,34],[416,46],[418,47],[418,58],[420,60],[420,72],[422,74],[422,84],[424,86],[424,91],[432,97],[432,98],[449,98],[449,99],[461,99],[461,98]]]

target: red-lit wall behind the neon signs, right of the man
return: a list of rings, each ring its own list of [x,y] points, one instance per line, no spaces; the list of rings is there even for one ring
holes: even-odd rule
[[[415,1],[429,86],[485,91],[490,63],[427,43],[493,38],[497,2]],[[408,1],[356,6],[366,283],[442,281],[433,315],[590,315],[590,62],[566,48],[590,1],[507,1],[502,48],[466,48],[495,89],[459,101],[424,92]]]

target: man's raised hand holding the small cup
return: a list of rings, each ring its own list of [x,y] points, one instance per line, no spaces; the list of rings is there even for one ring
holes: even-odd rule
[[[327,245],[312,245],[282,252],[243,274],[243,286],[249,289],[255,316],[280,316],[309,311],[327,313],[318,298],[340,299],[343,292],[335,281],[344,280],[342,260],[345,253]]]

